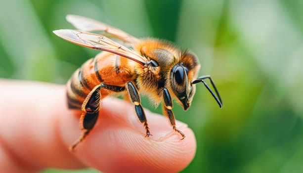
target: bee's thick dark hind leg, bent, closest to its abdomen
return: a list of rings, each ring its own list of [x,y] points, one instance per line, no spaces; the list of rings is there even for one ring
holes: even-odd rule
[[[94,127],[98,115],[99,115],[99,108],[100,108],[100,89],[108,89],[111,91],[119,92],[123,91],[125,87],[118,87],[118,86],[111,86],[106,84],[101,84],[94,87],[87,95],[86,99],[82,104],[82,115],[80,118],[80,129],[83,130],[82,135],[80,138],[70,147],[70,150],[74,150],[75,147],[85,139],[89,131]]]

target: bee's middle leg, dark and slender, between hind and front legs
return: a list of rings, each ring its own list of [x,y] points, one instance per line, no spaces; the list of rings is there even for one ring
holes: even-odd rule
[[[141,106],[141,99],[140,99],[140,95],[138,93],[138,89],[131,82],[128,82],[126,84],[126,88],[128,90],[130,100],[134,104],[134,109],[136,111],[137,117],[140,120],[140,122],[144,124],[145,130],[146,130],[145,137],[146,136],[148,137],[151,134],[149,132],[149,128],[148,128],[148,124],[147,124],[147,121],[146,121],[146,116],[145,116],[144,110]]]

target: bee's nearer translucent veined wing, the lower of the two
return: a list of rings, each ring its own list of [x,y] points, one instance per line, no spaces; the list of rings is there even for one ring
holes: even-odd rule
[[[144,65],[147,61],[145,57],[139,55],[134,50],[131,50],[119,43],[116,43],[102,35],[69,29],[55,30],[53,31],[53,33],[71,43],[79,44],[92,49],[104,50],[111,53],[115,53],[142,65]]]

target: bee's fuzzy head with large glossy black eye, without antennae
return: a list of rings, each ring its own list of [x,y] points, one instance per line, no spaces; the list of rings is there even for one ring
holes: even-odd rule
[[[196,91],[191,81],[196,77],[200,65],[194,54],[185,52],[170,73],[170,83],[178,102],[187,110]]]

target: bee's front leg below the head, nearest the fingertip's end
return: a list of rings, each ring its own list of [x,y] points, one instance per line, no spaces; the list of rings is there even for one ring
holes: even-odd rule
[[[164,100],[164,104],[163,104],[164,115],[170,119],[171,125],[173,126],[173,130],[178,132],[182,136],[182,139],[184,139],[185,134],[181,130],[178,130],[175,127],[175,118],[174,118],[173,110],[172,110],[173,109],[173,100],[172,100],[170,92],[168,91],[167,88],[163,89],[163,100]]]

